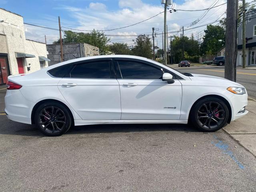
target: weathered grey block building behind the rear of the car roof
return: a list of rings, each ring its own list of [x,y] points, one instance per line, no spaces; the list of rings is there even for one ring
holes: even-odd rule
[[[49,66],[60,62],[60,44],[46,45],[48,51]],[[68,43],[63,44],[63,58],[64,61],[99,55],[99,48],[86,43]]]

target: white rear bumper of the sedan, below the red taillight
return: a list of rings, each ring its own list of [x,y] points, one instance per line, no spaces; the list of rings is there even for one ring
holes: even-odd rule
[[[20,90],[7,90],[4,102],[8,119],[31,124],[31,106],[34,103],[26,100]]]

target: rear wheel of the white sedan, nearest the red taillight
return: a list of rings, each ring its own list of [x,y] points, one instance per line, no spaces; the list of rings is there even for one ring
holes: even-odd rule
[[[43,134],[60,136],[72,126],[72,115],[63,104],[45,102],[36,109],[34,122]]]

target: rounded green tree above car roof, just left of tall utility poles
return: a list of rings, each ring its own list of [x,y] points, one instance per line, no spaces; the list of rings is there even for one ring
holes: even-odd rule
[[[135,45],[132,47],[132,55],[152,58],[152,42],[149,36],[139,35],[135,40]]]

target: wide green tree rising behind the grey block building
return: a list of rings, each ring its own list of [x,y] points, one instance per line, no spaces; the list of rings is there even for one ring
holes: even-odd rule
[[[74,33],[72,31],[65,31],[63,43],[88,43],[93,46],[97,46],[100,50],[100,54],[108,54],[108,38],[104,32],[93,30],[88,34]],[[53,42],[53,44],[59,44],[60,40]]]

